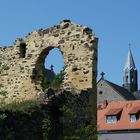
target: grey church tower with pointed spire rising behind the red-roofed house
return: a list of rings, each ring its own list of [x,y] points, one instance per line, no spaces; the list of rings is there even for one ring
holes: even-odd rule
[[[129,92],[138,90],[138,75],[131,49],[129,48],[126,64],[123,71],[123,87]]]

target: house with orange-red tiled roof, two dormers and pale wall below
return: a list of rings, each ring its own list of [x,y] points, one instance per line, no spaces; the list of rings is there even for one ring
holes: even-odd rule
[[[140,100],[98,104],[98,140],[139,140]]]

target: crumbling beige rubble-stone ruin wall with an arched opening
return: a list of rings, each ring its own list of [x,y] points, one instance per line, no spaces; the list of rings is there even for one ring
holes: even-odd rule
[[[0,90],[7,92],[6,96],[0,95],[1,102],[40,98],[45,57],[53,48],[59,48],[66,66],[62,88],[95,92],[97,43],[91,29],[64,20],[17,39],[12,47],[0,48],[0,67],[4,68],[0,72]],[[26,50],[21,51],[21,46]]]

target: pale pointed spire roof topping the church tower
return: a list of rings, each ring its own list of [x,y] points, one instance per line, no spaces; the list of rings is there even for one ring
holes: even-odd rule
[[[133,59],[133,55],[132,55],[132,52],[131,52],[130,48],[128,50],[128,56],[127,56],[127,60],[126,60],[124,70],[125,69],[129,69],[129,70],[130,69],[136,69],[134,59]]]

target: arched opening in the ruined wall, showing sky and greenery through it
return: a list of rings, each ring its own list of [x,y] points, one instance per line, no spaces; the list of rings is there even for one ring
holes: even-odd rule
[[[64,59],[58,48],[49,51],[44,60],[43,89],[60,88],[64,76]]]

